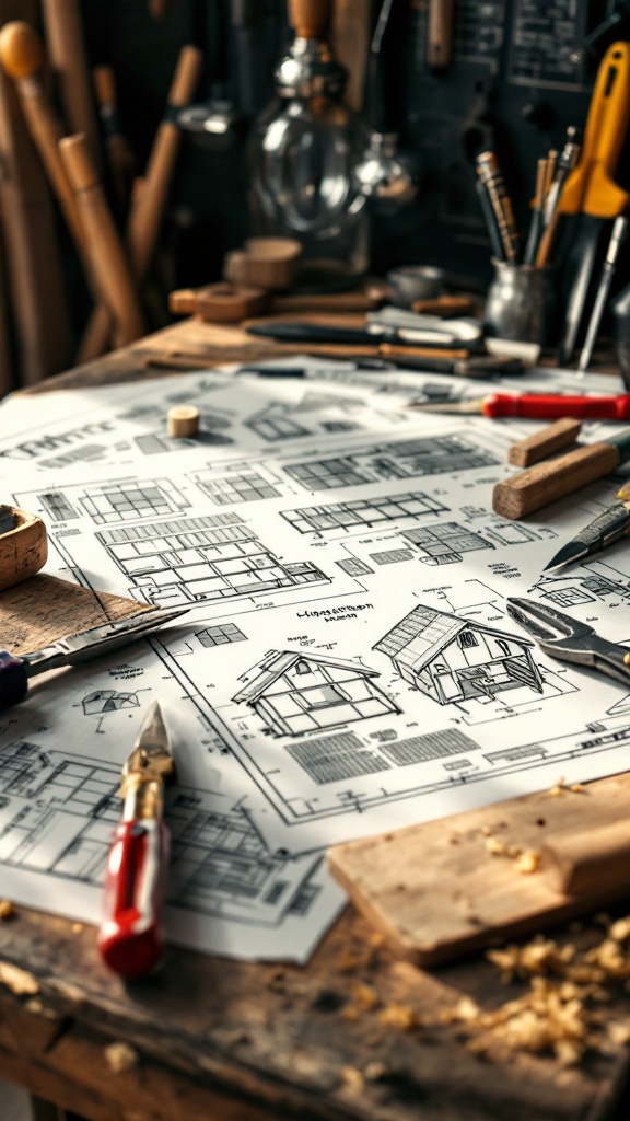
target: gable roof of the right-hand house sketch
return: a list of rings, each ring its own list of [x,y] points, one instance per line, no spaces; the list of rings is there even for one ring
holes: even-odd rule
[[[520,646],[534,646],[530,639],[517,638],[472,619],[461,619],[445,611],[435,611],[421,604],[376,643],[374,650],[388,654],[396,661],[416,671],[424,669],[457,634],[466,629],[483,631],[494,638],[512,638]]]

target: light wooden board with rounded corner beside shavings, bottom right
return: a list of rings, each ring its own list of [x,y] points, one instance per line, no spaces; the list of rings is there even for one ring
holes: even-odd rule
[[[567,896],[544,865],[519,873],[513,858],[539,854],[555,834],[628,817],[630,775],[557,789],[336,845],[328,867],[390,945],[419,965],[545,929],[626,897],[629,882]]]

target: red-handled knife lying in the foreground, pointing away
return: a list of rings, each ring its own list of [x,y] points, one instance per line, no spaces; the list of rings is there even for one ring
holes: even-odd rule
[[[164,952],[161,909],[170,842],[164,788],[174,778],[170,740],[156,702],[122,768],[122,818],[105,873],[99,949],[123,978],[147,973]]]

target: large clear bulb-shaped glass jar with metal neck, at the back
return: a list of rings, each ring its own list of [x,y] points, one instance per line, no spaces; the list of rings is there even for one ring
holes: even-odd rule
[[[299,9],[289,8],[296,36],[276,72],[277,96],[250,137],[252,225],[259,235],[300,241],[306,284],[343,288],[369,265],[367,198],[355,175],[369,133],[342,101],[348,72],[323,38],[325,6],[307,27]]]

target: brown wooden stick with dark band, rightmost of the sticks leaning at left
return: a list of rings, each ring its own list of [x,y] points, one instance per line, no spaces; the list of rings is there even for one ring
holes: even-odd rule
[[[147,170],[141,179],[141,189],[133,192],[126,242],[139,290],[157,247],[164,207],[179,149],[179,130],[172,119],[173,111],[188,104],[197,83],[201,63],[202,55],[196,47],[187,46],[180,50],[168,94],[167,110],[154,140]],[[94,315],[87,331],[92,344],[100,346],[102,353],[106,350],[111,327],[108,327],[100,313],[99,323],[93,321]]]

